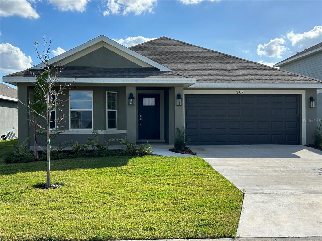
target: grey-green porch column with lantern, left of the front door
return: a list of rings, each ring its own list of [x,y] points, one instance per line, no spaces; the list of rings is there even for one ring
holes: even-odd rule
[[[136,130],[136,123],[137,123],[137,116],[136,116],[136,107],[133,105],[128,105],[128,96],[130,93],[135,95],[135,86],[126,86],[126,136],[127,140],[133,143],[137,141],[137,130]],[[135,102],[137,104],[137,102]]]

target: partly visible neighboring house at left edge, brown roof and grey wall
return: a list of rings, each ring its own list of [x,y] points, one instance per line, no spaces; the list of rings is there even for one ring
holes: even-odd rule
[[[0,136],[14,129],[18,135],[17,90],[0,82]]]

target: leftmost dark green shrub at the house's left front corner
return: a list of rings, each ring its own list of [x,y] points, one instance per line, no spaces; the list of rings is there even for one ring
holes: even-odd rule
[[[20,146],[14,145],[13,155],[5,158],[5,163],[27,163],[33,161],[32,152],[28,150],[26,141],[30,140],[28,137],[24,140],[24,142]]]

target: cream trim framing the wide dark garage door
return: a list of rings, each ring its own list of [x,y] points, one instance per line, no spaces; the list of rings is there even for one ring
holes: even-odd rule
[[[300,115],[300,121],[302,122],[301,125],[301,137],[302,145],[306,145],[306,121],[303,121],[303,119],[306,119],[306,106],[305,106],[305,90],[244,90],[242,88],[234,89],[234,90],[184,90],[185,94],[236,94],[236,91],[243,91],[242,94],[300,94],[301,97],[301,115]],[[236,94],[239,95],[239,94]],[[185,100],[185,97],[183,98]],[[183,106],[185,108],[185,103],[183,103]],[[185,110],[184,110],[185,111]],[[184,116],[184,123],[185,123],[185,116]]]

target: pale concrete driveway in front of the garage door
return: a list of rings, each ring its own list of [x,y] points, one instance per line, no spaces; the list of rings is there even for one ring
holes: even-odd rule
[[[239,237],[322,236],[322,151],[298,145],[190,148],[245,192]]]

